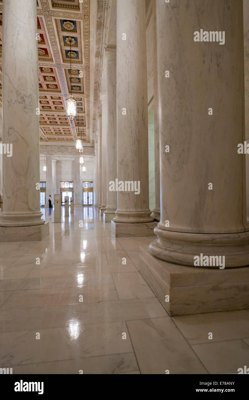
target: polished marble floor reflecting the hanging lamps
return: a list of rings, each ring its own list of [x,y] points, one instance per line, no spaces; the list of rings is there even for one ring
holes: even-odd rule
[[[0,367],[13,374],[249,367],[249,310],[171,318],[136,268],[139,246],[152,238],[116,239],[93,208],[75,208],[62,224],[44,213],[44,240],[0,243]]]

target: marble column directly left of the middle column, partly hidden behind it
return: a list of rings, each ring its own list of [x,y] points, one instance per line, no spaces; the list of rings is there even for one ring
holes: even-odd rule
[[[116,94],[116,48],[106,48],[106,85],[107,85],[107,134],[106,134],[106,183],[107,206],[104,212],[105,222],[116,217],[118,195],[110,191],[110,182],[115,182],[117,172],[117,94]]]

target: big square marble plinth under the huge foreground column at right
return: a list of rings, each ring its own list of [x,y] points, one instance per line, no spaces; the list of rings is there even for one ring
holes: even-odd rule
[[[137,268],[171,316],[249,308],[249,267],[181,266],[160,260],[144,246]]]

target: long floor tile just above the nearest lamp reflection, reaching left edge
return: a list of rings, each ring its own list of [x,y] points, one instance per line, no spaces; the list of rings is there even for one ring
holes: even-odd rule
[[[72,321],[86,325],[163,316],[167,316],[167,312],[155,297],[61,306],[0,308],[0,332],[56,328]]]

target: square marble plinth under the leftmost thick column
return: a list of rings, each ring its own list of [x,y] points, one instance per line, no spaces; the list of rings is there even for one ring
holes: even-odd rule
[[[26,242],[42,240],[49,235],[49,222],[34,226],[1,226],[0,242]]]

